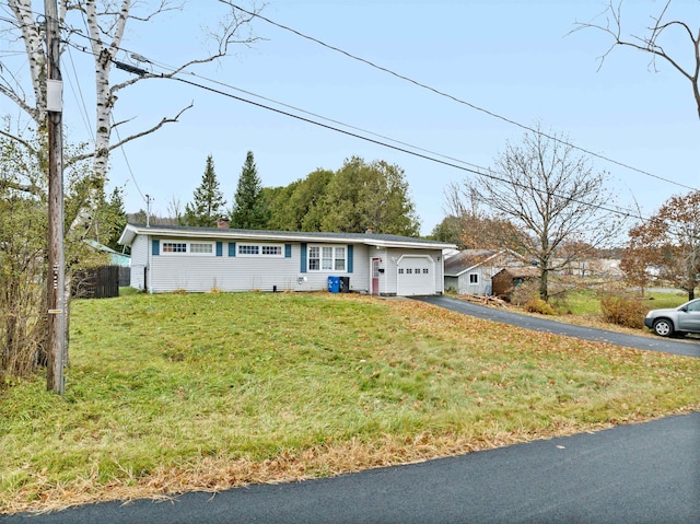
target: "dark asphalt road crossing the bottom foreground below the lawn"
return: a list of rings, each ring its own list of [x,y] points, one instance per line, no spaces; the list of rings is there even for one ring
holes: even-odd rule
[[[700,412],[337,478],[3,524],[700,523]]]

